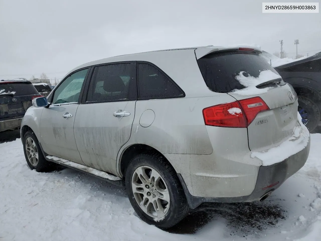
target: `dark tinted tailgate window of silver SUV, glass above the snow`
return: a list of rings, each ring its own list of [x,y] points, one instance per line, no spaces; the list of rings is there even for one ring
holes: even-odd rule
[[[236,79],[241,71],[258,77],[261,71],[277,71],[265,59],[254,52],[216,52],[197,60],[207,87],[214,92],[228,93],[241,90],[245,86]]]

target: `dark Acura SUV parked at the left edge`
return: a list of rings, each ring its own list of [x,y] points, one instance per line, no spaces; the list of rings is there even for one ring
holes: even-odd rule
[[[19,129],[31,100],[40,96],[30,81],[0,80],[0,132]]]

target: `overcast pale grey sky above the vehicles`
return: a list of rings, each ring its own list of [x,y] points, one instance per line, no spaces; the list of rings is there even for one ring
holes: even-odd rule
[[[92,60],[168,48],[256,43],[273,53],[283,39],[295,56],[299,39],[310,55],[321,51],[321,13],[262,13],[257,0],[0,0],[0,36],[0,79],[61,78]]]

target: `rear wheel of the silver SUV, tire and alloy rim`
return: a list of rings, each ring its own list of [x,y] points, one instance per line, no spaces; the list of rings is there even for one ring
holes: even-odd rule
[[[153,152],[135,156],[125,175],[126,191],[138,216],[148,224],[171,228],[184,219],[189,207],[174,168]]]

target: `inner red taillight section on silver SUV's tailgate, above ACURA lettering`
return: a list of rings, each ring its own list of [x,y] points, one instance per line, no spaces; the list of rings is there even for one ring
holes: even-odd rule
[[[249,99],[240,100],[239,103],[245,112],[247,126],[252,123],[256,115],[261,111],[270,110],[267,104],[261,99],[261,97],[253,97]]]

